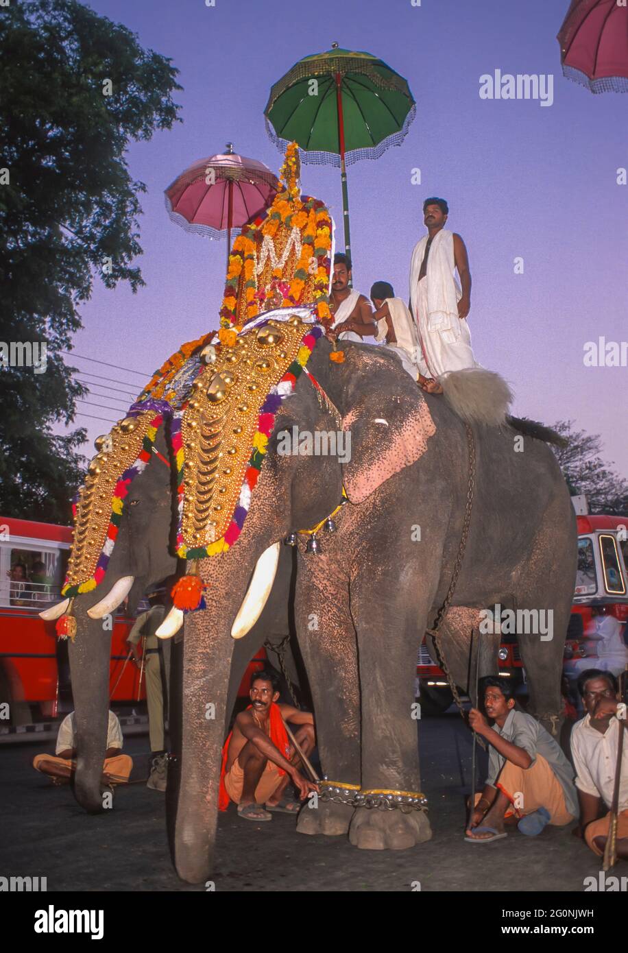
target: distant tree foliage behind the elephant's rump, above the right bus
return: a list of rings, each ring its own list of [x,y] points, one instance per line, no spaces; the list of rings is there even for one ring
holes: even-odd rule
[[[568,441],[552,446],[571,493],[584,494],[590,513],[628,514],[628,482],[601,458],[601,437],[574,430],[573,420],[558,420],[554,430]]]

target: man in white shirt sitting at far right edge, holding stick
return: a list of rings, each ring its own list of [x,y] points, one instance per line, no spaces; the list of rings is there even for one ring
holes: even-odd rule
[[[618,760],[619,732],[627,726],[625,709],[618,708],[618,683],[612,672],[591,668],[577,680],[585,717],[577,721],[571,735],[572,758],[576,768],[580,822],[575,834],[584,837],[591,850],[601,856],[608,836]],[[619,717],[622,714],[622,717]],[[628,740],[624,736],[618,801],[618,858],[628,860]],[[602,802],[609,809],[598,818]]]

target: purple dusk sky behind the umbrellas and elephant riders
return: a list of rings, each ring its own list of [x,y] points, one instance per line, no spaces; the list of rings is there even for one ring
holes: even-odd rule
[[[208,8],[204,0],[94,0],[93,10],[172,57],[184,87],[175,97],[183,122],[132,145],[132,176],[148,187],[137,259],[147,286],[133,295],[96,280],[81,309],[76,353],[151,374],[180,343],[217,327],[225,242],[172,224],[163,191],[193,160],[223,152],[230,140],[236,152],[278,172],[280,153],[264,128],[270,87],[296,60],[336,41],[381,57],[408,79],[416,100],[403,144],[349,167],[355,287],[368,294],[373,281],[386,279],[407,299],[410,255],[424,233],[422,200],[447,198],[448,226],[469,250],[476,358],[511,383],[519,416],[574,418],[603,436],[604,455],[628,476],[626,368],[583,364],[586,341],[627,336],[628,187],[616,176],[628,165],[628,97],[593,95],[563,78],[556,34],[568,6],[215,0]],[[480,75],[496,69],[553,73],[554,104],[480,99]],[[415,168],[420,185],[411,183]],[[330,206],[339,247],[339,172],[304,165],[301,181],[305,193]],[[516,256],[524,274],[514,274]],[[119,380],[146,379],[72,362]],[[109,429],[85,416],[76,422],[89,426],[91,439]]]

